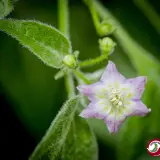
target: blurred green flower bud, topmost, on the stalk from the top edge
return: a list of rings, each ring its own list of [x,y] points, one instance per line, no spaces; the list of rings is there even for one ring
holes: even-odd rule
[[[106,35],[111,34],[114,30],[115,28],[113,27],[111,23],[109,23],[108,21],[103,21],[99,25],[98,33],[100,36],[106,36]]]

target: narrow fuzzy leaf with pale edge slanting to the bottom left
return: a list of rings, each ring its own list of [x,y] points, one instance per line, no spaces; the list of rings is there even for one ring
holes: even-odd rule
[[[53,160],[59,156],[74,118],[77,100],[78,97],[74,97],[64,104],[30,160],[43,158]]]

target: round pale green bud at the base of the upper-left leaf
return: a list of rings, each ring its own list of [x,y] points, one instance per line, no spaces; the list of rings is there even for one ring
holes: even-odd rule
[[[68,54],[63,58],[63,63],[69,68],[77,67],[77,59],[74,54]]]

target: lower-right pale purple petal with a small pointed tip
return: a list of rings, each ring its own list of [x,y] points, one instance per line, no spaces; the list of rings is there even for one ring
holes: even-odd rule
[[[148,109],[142,101],[134,101],[131,106],[131,113],[129,113],[127,116],[145,116],[147,115],[151,109]]]

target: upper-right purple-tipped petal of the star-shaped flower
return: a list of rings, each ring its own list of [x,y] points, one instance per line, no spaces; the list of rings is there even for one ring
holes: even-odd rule
[[[127,80],[132,86],[135,88],[135,98],[141,98],[142,93],[144,92],[144,87],[147,82],[147,78],[145,76],[140,76],[136,78],[131,78]]]

